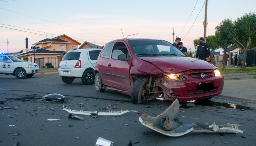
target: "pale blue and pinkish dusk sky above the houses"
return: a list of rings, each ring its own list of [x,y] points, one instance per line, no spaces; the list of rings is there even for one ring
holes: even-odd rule
[[[208,0],[206,35],[214,35],[225,18],[255,12],[255,5],[255,0]],[[31,48],[63,34],[100,46],[128,35],[171,43],[180,37],[193,51],[193,40],[204,36],[204,13],[204,0],[0,0],[0,52],[24,50],[26,38]]]

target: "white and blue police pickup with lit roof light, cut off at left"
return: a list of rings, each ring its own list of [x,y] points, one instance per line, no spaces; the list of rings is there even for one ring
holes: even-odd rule
[[[0,52],[0,74],[12,74],[18,79],[31,78],[39,71],[36,63],[24,62],[19,58]]]

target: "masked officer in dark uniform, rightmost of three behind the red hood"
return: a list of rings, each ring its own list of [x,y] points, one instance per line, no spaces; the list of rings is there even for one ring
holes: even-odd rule
[[[196,58],[198,57],[199,59],[206,61],[211,53],[209,46],[204,43],[204,38],[200,37],[199,41],[200,44],[198,45],[198,48],[196,50]]]

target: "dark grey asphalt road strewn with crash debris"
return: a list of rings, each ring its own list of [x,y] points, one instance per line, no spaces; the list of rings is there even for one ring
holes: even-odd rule
[[[58,93],[66,99],[62,102],[45,101],[47,94]],[[217,98],[216,98],[217,99]],[[212,98],[212,101],[215,97]],[[171,102],[149,101],[147,105],[135,105],[130,96],[106,90],[98,93],[94,85],[83,85],[80,79],[71,84],[61,81],[58,74],[36,74],[19,80],[15,76],[0,75],[0,146],[93,146],[99,137],[113,141],[114,146],[170,146],[170,145],[255,145],[255,110],[226,108],[223,106],[195,105],[180,108],[178,118],[184,124],[206,122],[217,125],[239,124],[243,133],[207,134],[189,133],[180,137],[168,137],[144,127],[139,122],[140,114],[128,112],[121,116],[81,116],[84,120],[68,118],[62,107],[73,110],[113,111],[137,110],[156,117],[165,111]],[[236,107],[234,104],[233,107]],[[47,119],[59,119],[50,122]],[[11,126],[9,126],[11,125]],[[12,126],[14,125],[14,126]],[[227,143],[228,142],[228,143]]]

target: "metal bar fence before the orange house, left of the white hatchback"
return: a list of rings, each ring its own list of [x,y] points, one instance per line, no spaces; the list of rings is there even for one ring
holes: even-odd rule
[[[46,64],[52,64],[54,68],[59,68],[59,64],[61,60],[62,60],[62,57],[35,58],[35,62],[39,66],[39,68],[41,67],[46,68]]]

